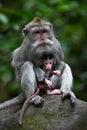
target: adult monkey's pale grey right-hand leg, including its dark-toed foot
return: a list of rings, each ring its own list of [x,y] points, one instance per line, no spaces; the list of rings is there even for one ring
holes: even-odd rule
[[[72,103],[75,102],[76,96],[72,92],[73,77],[70,67],[66,64],[64,72],[61,76],[61,91],[63,92],[63,98],[70,96]]]

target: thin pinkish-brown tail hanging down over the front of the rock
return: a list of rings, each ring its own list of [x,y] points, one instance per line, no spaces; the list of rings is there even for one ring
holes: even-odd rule
[[[19,117],[19,125],[22,125],[22,119],[23,119],[23,115],[24,115],[24,112],[25,112],[27,103],[28,103],[33,97],[35,97],[38,93],[39,93],[39,88],[37,88],[37,91],[25,100],[25,102],[24,102],[24,104],[23,104],[23,106],[22,106],[22,109],[21,109],[20,117]]]

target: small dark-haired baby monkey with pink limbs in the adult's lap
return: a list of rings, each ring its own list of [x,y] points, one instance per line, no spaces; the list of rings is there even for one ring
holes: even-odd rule
[[[43,55],[40,61],[40,66],[45,72],[44,81],[38,83],[40,90],[45,90],[47,95],[62,94],[60,89],[54,89],[52,82],[50,81],[52,75],[61,76],[60,70],[54,70],[56,59],[52,55]]]

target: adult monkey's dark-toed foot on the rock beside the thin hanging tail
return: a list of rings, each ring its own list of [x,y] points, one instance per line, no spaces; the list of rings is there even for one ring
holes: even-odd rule
[[[31,99],[31,103],[36,107],[41,107],[44,104],[44,98],[36,95]]]

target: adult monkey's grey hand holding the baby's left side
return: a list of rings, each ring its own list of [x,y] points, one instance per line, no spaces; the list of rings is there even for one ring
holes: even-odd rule
[[[41,82],[44,80],[44,75],[45,75],[45,72],[39,68],[39,67],[35,67],[35,74],[36,74],[36,78],[37,78],[37,81]]]

